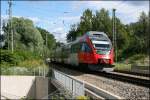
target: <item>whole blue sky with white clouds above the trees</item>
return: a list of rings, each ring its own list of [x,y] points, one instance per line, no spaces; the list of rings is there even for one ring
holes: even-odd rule
[[[142,11],[148,14],[149,1],[13,1],[12,15],[29,18],[35,26],[48,30],[60,42],[66,42],[66,34],[70,25],[80,21],[85,9],[90,8],[93,13],[105,8],[112,16],[112,9],[116,9],[116,16],[124,24],[136,22]],[[1,1],[1,17],[8,18],[8,2]]]

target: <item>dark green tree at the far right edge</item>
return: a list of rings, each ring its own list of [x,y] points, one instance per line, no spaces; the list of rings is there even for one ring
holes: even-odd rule
[[[144,12],[141,12],[139,20],[135,23],[128,25],[128,30],[130,36],[132,36],[132,41],[127,48],[134,48],[132,52],[136,53],[147,53],[149,50],[149,16]],[[134,43],[134,44],[133,44]],[[136,45],[135,45],[136,44]]]

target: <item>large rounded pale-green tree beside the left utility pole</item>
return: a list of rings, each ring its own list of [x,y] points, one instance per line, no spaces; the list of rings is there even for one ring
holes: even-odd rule
[[[40,32],[34,27],[33,22],[23,17],[13,17],[12,30],[14,33],[15,50],[29,50],[32,52],[42,52],[43,39]],[[9,24],[3,26],[5,34],[10,33]],[[8,41],[6,42],[6,46]]]

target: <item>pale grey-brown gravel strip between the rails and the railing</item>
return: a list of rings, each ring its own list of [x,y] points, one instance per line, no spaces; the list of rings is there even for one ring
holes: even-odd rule
[[[112,94],[118,95],[125,99],[146,99],[149,100],[150,90],[147,87],[138,86],[135,84],[122,82],[114,79],[109,79],[103,76],[97,76],[94,74],[86,74],[67,68],[58,68],[63,73],[76,77],[80,80],[84,80],[91,83],[101,89],[104,89]]]

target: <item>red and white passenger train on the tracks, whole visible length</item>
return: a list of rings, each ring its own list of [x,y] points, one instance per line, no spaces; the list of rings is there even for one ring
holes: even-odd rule
[[[89,31],[75,41],[57,47],[51,61],[97,71],[112,71],[114,51],[104,32]]]

